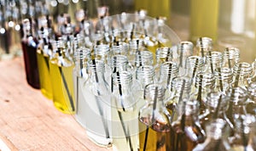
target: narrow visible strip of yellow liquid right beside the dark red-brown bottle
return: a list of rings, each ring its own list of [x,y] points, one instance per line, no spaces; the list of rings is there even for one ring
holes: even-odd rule
[[[46,98],[52,99],[52,87],[49,76],[49,56],[37,54],[40,89]]]

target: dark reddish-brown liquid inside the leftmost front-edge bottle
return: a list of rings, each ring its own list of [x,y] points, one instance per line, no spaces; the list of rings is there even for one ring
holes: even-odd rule
[[[38,44],[35,41],[36,44]],[[21,42],[25,62],[26,81],[33,88],[40,88],[38,74],[37,46],[32,46],[26,41]]]

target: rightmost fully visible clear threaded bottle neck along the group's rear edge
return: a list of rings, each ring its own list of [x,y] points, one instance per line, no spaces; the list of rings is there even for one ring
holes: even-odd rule
[[[233,70],[235,64],[240,61],[240,50],[238,48],[225,48],[223,53],[223,67]]]

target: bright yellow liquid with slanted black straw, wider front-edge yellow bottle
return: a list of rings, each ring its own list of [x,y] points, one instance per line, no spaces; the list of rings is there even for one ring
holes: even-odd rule
[[[63,67],[59,66],[58,64],[55,64],[55,62],[55,59],[51,59],[49,62],[50,78],[52,81],[53,89],[53,102],[55,104],[56,109],[59,109],[61,112],[66,114],[74,114],[74,65]]]

